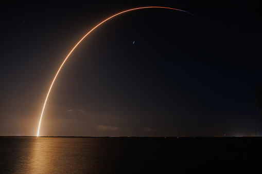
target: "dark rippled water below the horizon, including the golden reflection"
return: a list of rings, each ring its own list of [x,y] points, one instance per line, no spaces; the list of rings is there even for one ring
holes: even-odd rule
[[[0,173],[261,172],[261,138],[0,137]]]

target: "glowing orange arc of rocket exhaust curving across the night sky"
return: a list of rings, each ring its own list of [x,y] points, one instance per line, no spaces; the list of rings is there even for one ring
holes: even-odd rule
[[[74,49],[78,46],[78,44],[80,44],[80,42],[81,42],[89,33],[91,33],[94,29],[96,29],[99,25],[101,25],[101,24],[103,24],[104,22],[110,20],[111,18],[113,18],[113,17],[115,17],[115,16],[117,16],[117,15],[119,15],[119,14],[128,12],[128,11],[133,11],[133,10],[138,10],[138,9],[145,9],[145,8],[165,8],[165,9],[172,9],[172,10],[178,10],[178,11],[183,11],[183,12],[189,13],[189,12],[184,11],[184,10],[179,10],[179,9],[174,9],[174,8],[169,8],[169,7],[140,7],[140,8],[134,8],[134,9],[122,11],[122,12],[120,12],[120,13],[117,13],[117,14],[115,14],[115,15],[107,18],[106,20],[102,21],[102,22],[99,23],[97,26],[95,26],[95,27],[94,27],[92,30],[90,30],[87,34],[85,34],[85,35],[81,38],[81,40],[75,45],[75,47],[69,52],[69,54],[65,57],[64,62],[62,63],[62,65],[61,65],[60,68],[58,69],[57,74],[56,74],[56,76],[55,76],[55,78],[54,78],[54,80],[53,80],[53,82],[52,82],[52,84],[51,84],[51,86],[50,86],[50,88],[49,88],[49,91],[48,91],[48,93],[47,93],[47,95],[46,95],[44,107],[43,107],[43,110],[42,110],[42,113],[41,113],[41,118],[40,118],[40,121],[39,121],[37,137],[39,137],[40,124],[41,124],[42,116],[43,116],[44,109],[45,109],[45,104],[46,104],[46,101],[47,101],[47,99],[48,99],[48,95],[49,95],[49,93],[50,93],[50,90],[51,90],[51,88],[52,88],[52,86],[53,86],[53,84],[54,84],[54,82],[55,82],[55,80],[56,80],[56,78],[57,78],[57,75],[58,75],[60,69],[61,69],[62,66],[64,65],[64,63],[65,63],[65,61],[67,60],[67,58],[69,57],[69,55],[70,55],[70,54],[74,51]],[[192,13],[189,13],[189,14],[194,15],[194,14],[192,14]]]

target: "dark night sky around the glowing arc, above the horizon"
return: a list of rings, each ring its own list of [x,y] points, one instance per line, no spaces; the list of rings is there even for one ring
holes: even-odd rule
[[[261,1],[1,5],[0,136],[258,136]]]

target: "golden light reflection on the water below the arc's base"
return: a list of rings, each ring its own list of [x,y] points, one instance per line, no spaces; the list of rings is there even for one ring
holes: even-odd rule
[[[83,159],[86,151],[88,148],[83,148],[76,139],[68,142],[68,138],[34,138],[28,168],[31,173],[72,173],[83,167],[88,169],[87,164],[81,165],[90,160]]]

